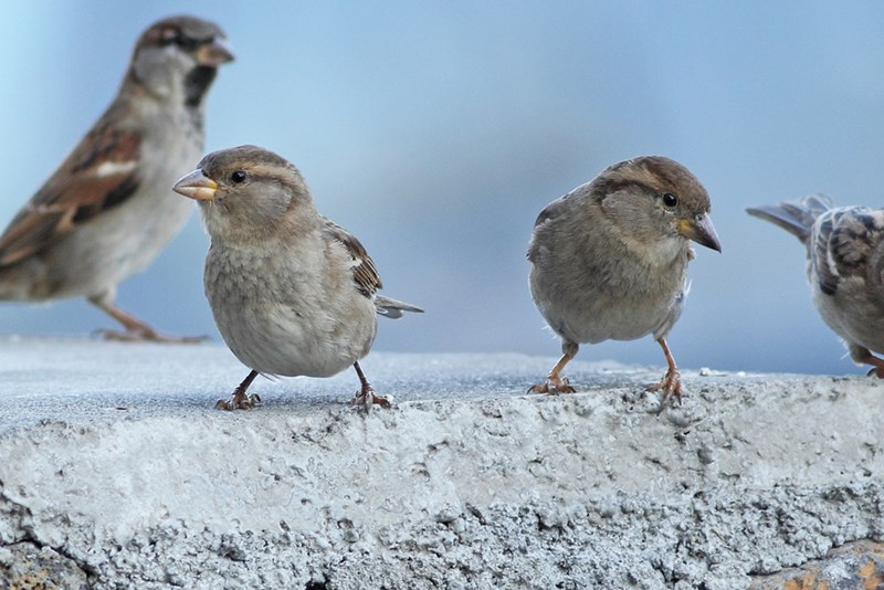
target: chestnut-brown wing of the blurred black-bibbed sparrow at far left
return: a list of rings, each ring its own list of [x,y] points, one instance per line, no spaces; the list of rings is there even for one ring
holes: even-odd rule
[[[109,122],[93,127],[0,235],[0,265],[39,253],[130,197],[140,182],[140,134]]]

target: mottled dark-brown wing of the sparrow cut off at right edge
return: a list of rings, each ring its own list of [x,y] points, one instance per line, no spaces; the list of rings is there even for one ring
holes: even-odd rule
[[[884,210],[842,207],[819,217],[808,244],[820,289],[834,295],[839,281],[865,276],[870,259],[884,239]],[[882,264],[881,261],[877,264]],[[878,270],[878,273],[881,270]]]

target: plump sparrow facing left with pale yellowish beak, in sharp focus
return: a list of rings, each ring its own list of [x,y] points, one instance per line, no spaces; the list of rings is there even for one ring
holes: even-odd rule
[[[206,156],[173,190],[196,199],[211,246],[206,296],[231,351],[251,370],[225,410],[249,409],[259,373],[330,377],[352,365],[361,388],[354,403],[377,396],[359,367],[371,348],[377,315],[421,312],[377,295],[375,263],[344,228],[320,215],[301,172],[255,146]]]

